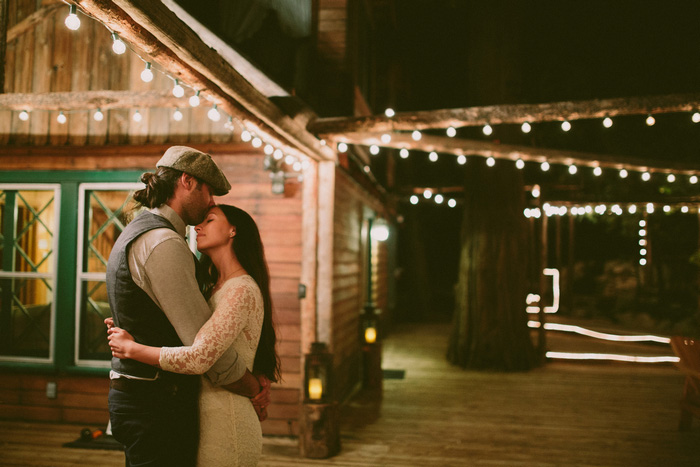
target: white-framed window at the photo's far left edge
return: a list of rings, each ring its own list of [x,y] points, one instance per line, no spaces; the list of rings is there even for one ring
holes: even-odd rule
[[[0,357],[53,361],[59,185],[0,184]]]

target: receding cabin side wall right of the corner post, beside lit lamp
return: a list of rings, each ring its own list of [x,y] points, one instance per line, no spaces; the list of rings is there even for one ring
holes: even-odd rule
[[[381,203],[342,169],[336,169],[333,233],[332,351],[336,394],[347,396],[361,377],[360,313],[367,301],[367,218],[382,212]],[[372,299],[387,305],[386,246],[372,242]]]

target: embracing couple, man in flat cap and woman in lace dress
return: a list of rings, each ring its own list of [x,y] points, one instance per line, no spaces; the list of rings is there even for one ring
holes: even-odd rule
[[[208,154],[171,147],[141,181],[134,199],[149,209],[107,264],[112,433],[127,466],[255,465],[280,376],[258,228],[214,203],[231,185]]]

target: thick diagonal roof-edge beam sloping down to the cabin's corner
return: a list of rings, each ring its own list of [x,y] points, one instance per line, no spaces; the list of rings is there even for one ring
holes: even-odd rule
[[[295,154],[335,160],[330,148],[284,115],[162,3],[78,0],[78,4],[169,73],[206,89],[223,110],[259,136]]]

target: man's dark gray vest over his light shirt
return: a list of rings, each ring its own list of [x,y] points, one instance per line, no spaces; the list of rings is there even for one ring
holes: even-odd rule
[[[127,330],[136,342],[154,347],[179,347],[182,341],[165,313],[134,282],[129,270],[129,247],[144,233],[167,228],[175,231],[164,217],[144,211],[119,235],[107,262],[107,295],[115,326]],[[186,265],[190,267],[190,265]],[[135,360],[112,358],[112,369],[123,375],[155,377],[158,369]]]

